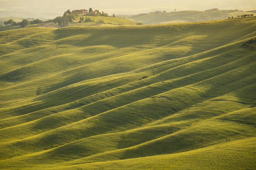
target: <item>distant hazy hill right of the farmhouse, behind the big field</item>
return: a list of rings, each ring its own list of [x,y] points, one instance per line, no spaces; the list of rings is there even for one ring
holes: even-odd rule
[[[229,16],[236,17],[241,14],[251,14],[255,11],[243,12],[238,10],[206,10],[206,11],[179,11],[179,12],[162,12],[149,14],[137,14],[128,17],[130,20],[141,21],[144,24],[157,23],[179,23],[179,22],[194,22],[194,21],[209,21],[226,19]]]

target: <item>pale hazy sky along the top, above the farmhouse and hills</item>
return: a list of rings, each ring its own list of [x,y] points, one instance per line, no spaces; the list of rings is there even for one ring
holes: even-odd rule
[[[67,9],[98,9],[108,14],[140,14],[153,11],[256,9],[256,0],[0,0],[0,17],[54,18]]]

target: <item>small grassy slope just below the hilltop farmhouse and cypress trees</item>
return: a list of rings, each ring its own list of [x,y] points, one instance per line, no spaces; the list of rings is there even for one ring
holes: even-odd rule
[[[80,20],[80,17],[83,17],[84,20],[85,18],[89,18],[91,20],[94,20],[94,22],[91,23],[78,23],[78,21]],[[136,23],[134,21],[131,20],[127,20],[125,18],[119,18],[119,17],[104,17],[101,15],[97,15],[97,16],[80,16],[77,17],[77,23],[72,22],[72,23],[68,23],[68,26],[93,26],[95,24],[97,24],[97,21],[103,21],[104,23],[107,24],[113,24],[113,25],[135,25]],[[104,23],[98,24],[98,25],[102,25]]]

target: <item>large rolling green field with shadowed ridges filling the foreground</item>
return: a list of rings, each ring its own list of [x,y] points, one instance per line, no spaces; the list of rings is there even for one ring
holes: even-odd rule
[[[255,30],[0,32],[0,169],[256,169]]]

